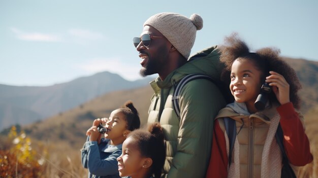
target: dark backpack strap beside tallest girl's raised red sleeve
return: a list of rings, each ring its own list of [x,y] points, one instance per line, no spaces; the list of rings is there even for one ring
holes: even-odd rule
[[[289,164],[288,157],[285,153],[284,145],[283,145],[283,132],[280,124],[278,124],[276,133],[275,133],[276,142],[279,146],[279,149],[282,153],[282,168],[281,168],[281,177],[291,177],[296,178],[295,172],[291,165]]]

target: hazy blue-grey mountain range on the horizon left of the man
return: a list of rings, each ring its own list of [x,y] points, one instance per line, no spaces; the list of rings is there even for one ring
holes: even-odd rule
[[[150,79],[127,81],[109,72],[48,87],[0,84],[0,130],[33,123],[64,112],[102,94],[145,86]]]

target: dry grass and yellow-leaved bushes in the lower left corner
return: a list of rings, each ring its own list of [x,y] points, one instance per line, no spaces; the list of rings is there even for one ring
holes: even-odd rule
[[[31,140],[14,127],[0,141],[0,177],[87,177],[80,150],[68,143]]]

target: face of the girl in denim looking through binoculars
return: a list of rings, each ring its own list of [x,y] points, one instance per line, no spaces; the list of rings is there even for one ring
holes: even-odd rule
[[[114,110],[106,122],[107,132],[105,137],[111,140],[122,138],[126,129],[127,121],[120,110]]]

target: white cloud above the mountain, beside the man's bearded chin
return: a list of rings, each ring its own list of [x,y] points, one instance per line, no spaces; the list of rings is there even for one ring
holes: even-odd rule
[[[108,71],[118,74],[126,80],[136,80],[142,78],[139,75],[139,70],[141,67],[138,64],[131,65],[129,63],[122,62],[117,58],[94,58],[90,59],[89,61],[76,64],[75,68],[79,68],[90,74]]]

